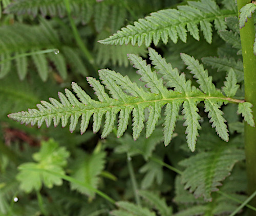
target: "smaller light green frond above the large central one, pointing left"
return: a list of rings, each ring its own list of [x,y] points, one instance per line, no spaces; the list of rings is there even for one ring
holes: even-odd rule
[[[122,28],[114,35],[99,41],[103,44],[128,44],[138,43],[140,46],[145,42],[150,46],[153,41],[155,45],[162,40],[165,44],[170,38],[177,43],[178,38],[186,42],[187,32],[196,40],[199,40],[199,28],[203,32],[208,43],[212,40],[212,24],[220,31],[226,29],[225,17],[236,16],[235,11],[221,10],[215,1],[200,0],[199,2],[188,2],[186,6],[178,6],[177,9],[166,9],[154,12],[151,16],[139,19],[134,26],[129,25]]]

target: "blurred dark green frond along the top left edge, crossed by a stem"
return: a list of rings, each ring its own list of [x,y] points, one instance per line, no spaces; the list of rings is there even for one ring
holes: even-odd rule
[[[106,26],[107,20],[111,20],[110,26],[112,31],[119,29],[126,18],[126,9],[122,7],[121,3],[116,3],[112,0],[104,1],[82,1],[75,0],[70,3],[71,14],[81,21],[83,25],[88,23],[92,17],[94,18],[95,29],[101,32]],[[41,14],[46,16],[59,16],[60,18],[67,15],[67,8],[65,3],[60,0],[22,0],[13,1],[4,11],[8,14],[25,15],[29,14],[33,17]],[[116,17],[118,17],[116,19]]]

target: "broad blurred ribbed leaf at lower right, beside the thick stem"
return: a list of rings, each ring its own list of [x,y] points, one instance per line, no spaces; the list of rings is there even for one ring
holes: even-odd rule
[[[196,198],[203,196],[205,201],[212,201],[212,191],[218,190],[221,181],[230,175],[234,164],[244,158],[243,150],[225,143],[216,143],[211,151],[200,152],[180,162],[180,165],[186,167],[182,173],[182,183]]]

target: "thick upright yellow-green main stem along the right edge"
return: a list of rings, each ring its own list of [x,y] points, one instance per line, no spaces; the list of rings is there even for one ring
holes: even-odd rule
[[[251,0],[238,0],[238,15],[240,15],[240,9],[248,3],[251,3]],[[253,54],[253,42],[255,38],[253,16],[245,23],[245,27],[240,29],[240,37],[244,64],[245,101],[250,102],[253,105],[252,112],[255,116],[256,57]],[[245,155],[248,194],[251,195],[256,190],[256,128],[247,124],[245,124]],[[251,205],[256,207],[255,198],[251,201]],[[251,213],[250,215],[256,215],[256,212],[253,212],[253,214]]]

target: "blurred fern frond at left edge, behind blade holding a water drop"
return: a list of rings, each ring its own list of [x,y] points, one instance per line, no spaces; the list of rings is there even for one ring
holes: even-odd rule
[[[0,78],[5,77],[10,72],[11,59],[16,57],[17,73],[19,78],[24,80],[28,73],[27,62],[28,58],[30,58],[27,56],[28,54],[30,54],[38,74],[43,81],[46,81],[48,78],[49,60],[54,64],[63,79],[67,78],[65,59],[68,61],[74,59],[73,63],[76,63],[76,67],[79,67],[82,64],[79,64],[79,61],[81,62],[81,57],[74,51],[73,53],[75,53],[75,56],[70,55],[73,48],[68,47],[65,44],[60,45],[62,44],[61,39],[58,36],[58,32],[53,29],[53,25],[54,22],[42,20],[40,25],[34,26],[20,23],[16,23],[12,26],[2,26],[0,28]],[[70,42],[67,41],[67,43],[70,46]],[[37,52],[39,53],[39,51],[42,51],[43,53],[45,49],[52,50],[56,48],[60,50],[58,55],[36,54]],[[71,52],[68,52],[69,50],[71,50]],[[1,61],[4,62],[2,63]],[[78,71],[80,70],[81,69],[79,68]],[[82,73],[87,75],[84,71],[86,71],[86,68],[83,66]]]

